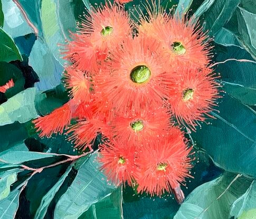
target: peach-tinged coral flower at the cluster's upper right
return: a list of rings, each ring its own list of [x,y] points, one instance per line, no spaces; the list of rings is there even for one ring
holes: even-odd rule
[[[160,12],[154,7],[157,6],[147,9],[151,11],[149,17],[142,16],[139,33],[153,36],[162,43],[166,68],[180,64],[195,65],[198,68],[208,65],[212,47],[198,23],[177,16],[170,18],[162,7],[158,6]]]

